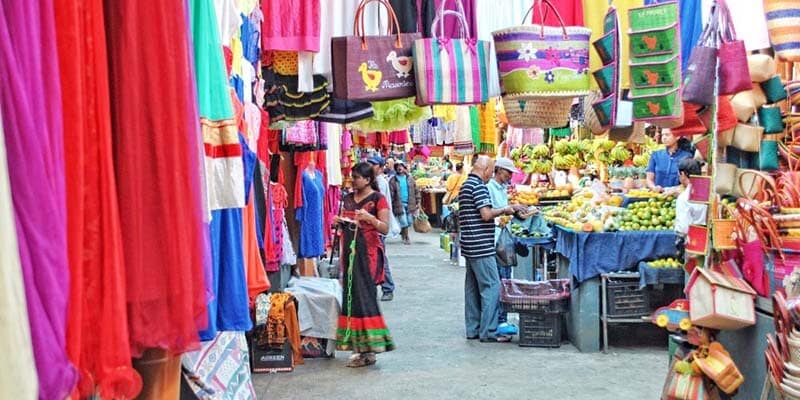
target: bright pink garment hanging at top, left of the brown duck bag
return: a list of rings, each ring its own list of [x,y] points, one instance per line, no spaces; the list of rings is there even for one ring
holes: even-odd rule
[[[319,51],[320,0],[264,1],[261,12],[262,49]]]

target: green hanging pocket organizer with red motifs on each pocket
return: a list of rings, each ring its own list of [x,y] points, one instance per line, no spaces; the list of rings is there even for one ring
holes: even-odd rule
[[[664,128],[683,124],[678,3],[628,11],[633,120]]]

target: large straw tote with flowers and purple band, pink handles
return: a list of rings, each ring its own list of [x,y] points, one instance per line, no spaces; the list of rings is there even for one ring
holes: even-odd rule
[[[544,26],[545,8],[560,27]],[[591,30],[564,26],[550,0],[535,0],[539,24],[492,33],[504,95],[520,97],[575,97],[589,93],[589,37]],[[525,15],[527,18],[527,14]]]

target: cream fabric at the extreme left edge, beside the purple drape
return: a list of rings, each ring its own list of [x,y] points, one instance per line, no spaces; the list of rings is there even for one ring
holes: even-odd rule
[[[39,381],[14,229],[5,143],[0,116],[0,221],[4,221],[0,224],[0,398],[33,400],[39,394]]]

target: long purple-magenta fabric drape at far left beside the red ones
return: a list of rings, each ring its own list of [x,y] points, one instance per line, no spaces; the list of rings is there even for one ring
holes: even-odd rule
[[[65,343],[69,273],[60,102],[52,0],[0,0],[0,107],[41,399],[65,398],[77,380]]]

